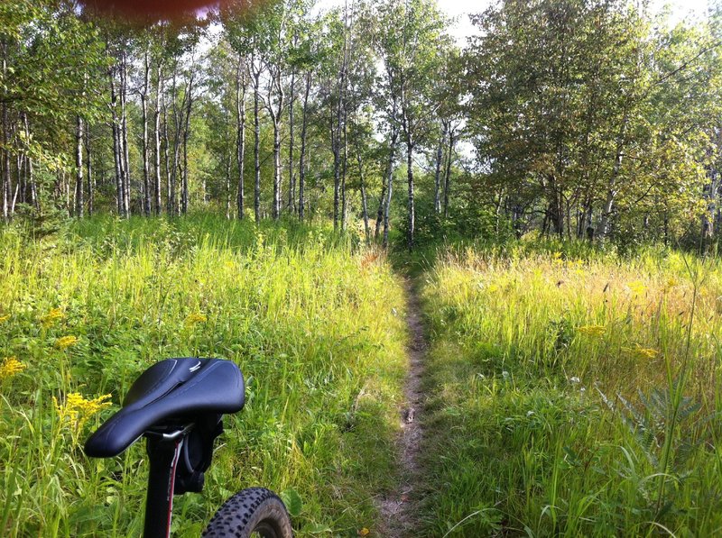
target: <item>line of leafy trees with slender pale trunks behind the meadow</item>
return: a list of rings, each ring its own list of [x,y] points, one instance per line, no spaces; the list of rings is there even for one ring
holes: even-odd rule
[[[716,241],[720,15],[505,0],[232,0],[127,22],[0,4],[3,216],[333,220],[366,241]]]

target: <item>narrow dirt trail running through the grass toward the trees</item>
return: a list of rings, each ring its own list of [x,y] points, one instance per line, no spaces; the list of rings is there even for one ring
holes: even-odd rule
[[[405,401],[399,409],[402,433],[398,439],[398,458],[401,463],[401,481],[397,488],[381,500],[379,536],[397,538],[412,535],[417,526],[418,493],[414,492],[418,480],[418,455],[423,429],[421,413],[424,402],[421,393],[426,359],[426,340],[421,323],[419,296],[410,279],[406,279],[406,323],[411,340],[407,349],[409,372],[404,387]]]

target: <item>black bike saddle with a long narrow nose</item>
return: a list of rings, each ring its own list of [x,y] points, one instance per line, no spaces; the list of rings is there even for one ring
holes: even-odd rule
[[[88,438],[85,453],[92,458],[111,458],[153,427],[190,424],[199,415],[236,413],[244,403],[244,380],[236,363],[161,360],[135,380],[123,408]]]

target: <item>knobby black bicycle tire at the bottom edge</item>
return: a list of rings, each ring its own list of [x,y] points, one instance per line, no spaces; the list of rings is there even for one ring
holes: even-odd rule
[[[292,538],[291,518],[283,501],[265,488],[247,488],[218,508],[203,532],[204,538]]]

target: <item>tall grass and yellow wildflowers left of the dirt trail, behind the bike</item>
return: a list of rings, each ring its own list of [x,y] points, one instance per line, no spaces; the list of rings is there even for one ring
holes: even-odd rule
[[[247,389],[203,493],[176,498],[174,536],[257,485],[290,501],[300,536],[373,529],[396,473],[403,291],[384,256],[354,250],[323,228],[202,215],[0,232],[0,534],[141,533],[144,443],[114,460],[81,445],[177,356],[235,360]]]

